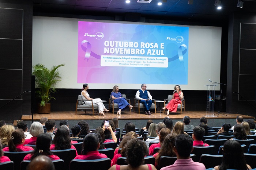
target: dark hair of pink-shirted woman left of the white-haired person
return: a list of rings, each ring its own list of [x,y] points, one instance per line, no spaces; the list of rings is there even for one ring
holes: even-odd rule
[[[10,152],[18,152],[16,144],[22,144],[22,139],[25,138],[24,131],[22,129],[16,129],[12,132],[11,138],[8,142]],[[25,140],[25,139],[24,139]]]

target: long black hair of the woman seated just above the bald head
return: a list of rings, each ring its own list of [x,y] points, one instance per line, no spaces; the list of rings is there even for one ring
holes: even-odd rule
[[[49,134],[40,134],[37,137],[36,146],[34,152],[31,154],[30,160],[32,161],[35,157],[39,155],[52,155],[50,151],[50,145],[52,143],[52,137]]]

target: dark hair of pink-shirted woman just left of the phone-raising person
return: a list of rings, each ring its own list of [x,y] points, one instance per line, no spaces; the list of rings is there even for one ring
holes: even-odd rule
[[[84,137],[82,155],[86,155],[89,151],[97,151],[99,146],[99,138],[96,134],[90,133]]]

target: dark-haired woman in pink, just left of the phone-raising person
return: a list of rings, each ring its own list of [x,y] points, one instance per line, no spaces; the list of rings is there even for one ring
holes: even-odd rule
[[[105,154],[100,154],[99,149],[99,138],[96,134],[91,133],[84,137],[82,155],[78,155],[75,159],[92,160],[108,158]]]

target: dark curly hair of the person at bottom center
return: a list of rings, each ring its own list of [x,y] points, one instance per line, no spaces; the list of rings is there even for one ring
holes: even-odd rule
[[[144,157],[148,155],[148,148],[144,141],[137,138],[131,139],[126,144],[126,162],[131,167],[139,167],[144,163]]]

